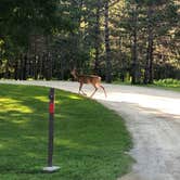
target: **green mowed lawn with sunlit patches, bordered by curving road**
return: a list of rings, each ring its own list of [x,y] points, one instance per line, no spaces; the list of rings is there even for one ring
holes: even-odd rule
[[[53,165],[44,173],[49,88],[0,85],[0,180],[115,180],[130,170],[124,120],[93,100],[55,90]]]

